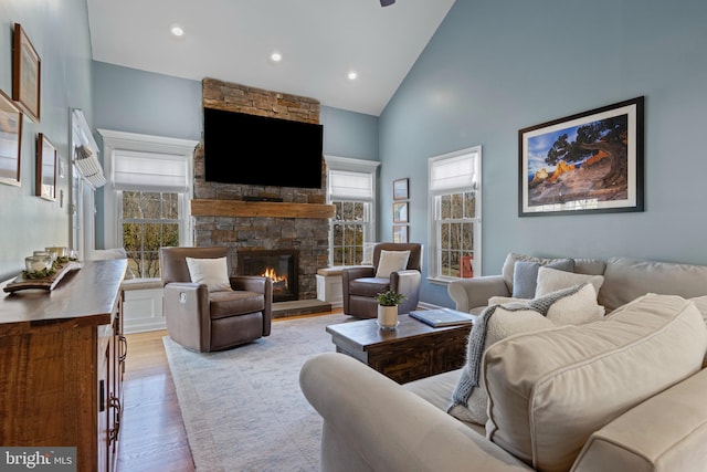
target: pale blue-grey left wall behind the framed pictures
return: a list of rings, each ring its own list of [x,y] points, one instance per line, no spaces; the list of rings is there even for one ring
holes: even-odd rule
[[[24,269],[24,256],[68,245],[68,179],[57,181],[62,202],[34,197],[36,134],[44,133],[64,166],[71,158],[70,109],[92,119],[91,42],[85,0],[0,1],[0,88],[12,95],[12,28],[22,24],[42,61],[41,122],[24,120],[21,187],[0,185],[0,280]]]

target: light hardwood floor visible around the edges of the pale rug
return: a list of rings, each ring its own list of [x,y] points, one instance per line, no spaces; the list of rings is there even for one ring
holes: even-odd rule
[[[331,313],[336,312],[297,317]],[[162,345],[166,335],[165,331],[127,335],[118,472],[194,471]]]

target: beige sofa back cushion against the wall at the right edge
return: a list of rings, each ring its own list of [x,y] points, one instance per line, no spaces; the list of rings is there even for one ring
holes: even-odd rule
[[[707,295],[707,265],[611,258],[606,261],[599,304],[606,312],[646,293],[679,295],[684,298]]]

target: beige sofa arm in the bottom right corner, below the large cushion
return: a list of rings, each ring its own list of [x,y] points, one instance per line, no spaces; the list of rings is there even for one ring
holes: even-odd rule
[[[572,472],[672,472],[707,464],[707,369],[595,431]]]

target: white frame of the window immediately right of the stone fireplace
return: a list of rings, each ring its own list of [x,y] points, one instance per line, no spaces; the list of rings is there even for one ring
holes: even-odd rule
[[[366,203],[363,208],[363,247],[367,243],[372,242],[376,239],[376,202],[378,195],[376,171],[380,166],[380,162],[374,160],[354,159],[349,157],[338,156],[325,156],[327,165],[327,203],[333,201],[360,201]],[[346,200],[331,198],[331,178],[329,172],[331,170],[366,174],[370,176],[372,181],[372,196],[371,198],[348,198]],[[334,264],[334,221],[329,222],[329,265]]]

